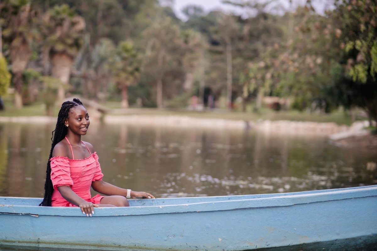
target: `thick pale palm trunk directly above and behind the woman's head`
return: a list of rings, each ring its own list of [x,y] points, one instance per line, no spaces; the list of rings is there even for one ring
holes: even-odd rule
[[[64,99],[65,91],[68,89],[70,68],[73,65],[73,58],[65,53],[56,53],[51,58],[51,74],[60,79],[62,86],[58,89],[58,99]]]

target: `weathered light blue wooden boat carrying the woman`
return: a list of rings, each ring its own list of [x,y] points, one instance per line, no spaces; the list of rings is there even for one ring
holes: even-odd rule
[[[377,246],[377,186],[136,199],[130,207],[95,208],[92,217],[79,208],[38,207],[40,202],[0,197],[1,245],[199,251]]]

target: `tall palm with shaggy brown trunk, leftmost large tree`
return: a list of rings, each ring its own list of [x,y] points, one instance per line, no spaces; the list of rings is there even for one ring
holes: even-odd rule
[[[10,1],[0,3],[0,24],[4,41],[9,52],[14,74],[15,107],[22,108],[22,72],[26,69],[31,49],[29,40],[35,35],[32,29],[35,23],[35,12],[31,9],[29,0]]]

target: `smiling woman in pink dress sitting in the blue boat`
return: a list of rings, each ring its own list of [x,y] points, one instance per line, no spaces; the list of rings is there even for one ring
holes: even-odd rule
[[[97,153],[90,143],[81,141],[89,124],[89,114],[80,100],[73,99],[61,105],[40,206],[80,207],[83,214],[92,216],[94,207],[128,207],[127,198],[155,198],[150,193],[102,181]],[[91,197],[90,187],[108,196]]]

